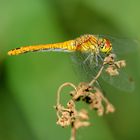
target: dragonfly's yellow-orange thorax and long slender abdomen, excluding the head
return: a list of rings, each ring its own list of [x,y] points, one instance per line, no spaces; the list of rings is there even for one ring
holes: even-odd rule
[[[97,49],[97,37],[94,35],[83,35],[75,40],[69,40],[62,43],[45,44],[36,46],[20,47],[8,52],[8,55],[19,55],[26,52],[35,51],[65,51],[65,52],[95,52]]]

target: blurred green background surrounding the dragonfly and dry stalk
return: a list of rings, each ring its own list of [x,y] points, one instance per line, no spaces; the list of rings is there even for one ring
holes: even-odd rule
[[[79,80],[65,53],[7,56],[19,46],[73,39],[82,34],[140,39],[139,0],[0,0],[0,140],[67,140],[53,106],[60,84]],[[140,139],[139,50],[124,58],[136,82],[133,93],[105,85],[116,112],[81,128],[77,140]],[[64,99],[65,100],[65,97]]]

